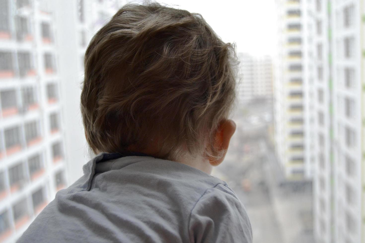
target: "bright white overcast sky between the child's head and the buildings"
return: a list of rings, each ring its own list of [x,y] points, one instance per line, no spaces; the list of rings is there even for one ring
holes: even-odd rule
[[[235,42],[238,52],[274,54],[276,13],[274,0],[157,0],[197,12],[224,42]]]

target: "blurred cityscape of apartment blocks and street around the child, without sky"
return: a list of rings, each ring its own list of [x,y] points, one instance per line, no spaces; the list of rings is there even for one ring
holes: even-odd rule
[[[84,53],[126,2],[0,0],[0,242],[82,175]],[[237,130],[212,175],[254,242],[365,243],[365,0],[275,3],[277,55],[238,54]]]

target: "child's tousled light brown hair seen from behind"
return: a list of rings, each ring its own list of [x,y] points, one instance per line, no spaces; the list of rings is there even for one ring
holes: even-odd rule
[[[234,44],[200,14],[124,5],[85,54],[81,113],[90,148],[123,153],[157,142],[159,158],[222,157],[204,144],[234,108],[236,67]]]

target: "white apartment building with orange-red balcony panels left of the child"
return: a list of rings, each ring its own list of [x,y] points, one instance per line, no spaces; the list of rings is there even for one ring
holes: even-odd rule
[[[82,175],[84,53],[122,3],[0,0],[0,242]]]

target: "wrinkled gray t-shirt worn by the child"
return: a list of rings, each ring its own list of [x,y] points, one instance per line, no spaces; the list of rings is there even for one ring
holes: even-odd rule
[[[179,162],[101,153],[18,242],[252,242],[241,201]]]

